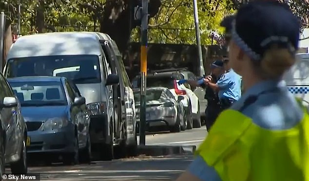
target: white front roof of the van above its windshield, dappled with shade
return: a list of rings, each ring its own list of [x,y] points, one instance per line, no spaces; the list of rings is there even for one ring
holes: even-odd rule
[[[21,36],[11,47],[7,59],[29,56],[101,54],[94,32],[56,32]]]

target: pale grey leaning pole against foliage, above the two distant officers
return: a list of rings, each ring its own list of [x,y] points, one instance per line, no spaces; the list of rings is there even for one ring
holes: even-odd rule
[[[202,54],[202,45],[201,45],[201,36],[199,31],[199,23],[198,23],[198,11],[197,11],[197,1],[193,0],[193,9],[194,9],[194,21],[195,21],[195,36],[196,36],[196,46],[197,53],[199,58],[199,75],[202,76],[205,73],[204,70],[204,62],[203,62],[203,54]]]

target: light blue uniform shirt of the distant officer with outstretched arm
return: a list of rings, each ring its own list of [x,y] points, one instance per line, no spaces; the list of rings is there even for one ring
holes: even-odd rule
[[[232,69],[224,73],[217,81],[219,99],[238,100],[241,96],[241,76]]]

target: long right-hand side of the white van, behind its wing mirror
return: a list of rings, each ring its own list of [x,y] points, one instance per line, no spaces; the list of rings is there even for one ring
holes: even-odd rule
[[[121,156],[135,156],[137,154],[137,127],[134,93],[131,82],[125,70],[122,55],[116,42],[110,36],[95,32],[106,55],[109,73],[119,76],[119,84],[113,85],[113,100],[115,107],[115,128],[116,139],[121,140],[119,150]]]

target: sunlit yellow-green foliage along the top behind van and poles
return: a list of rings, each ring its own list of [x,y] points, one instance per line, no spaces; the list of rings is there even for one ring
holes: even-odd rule
[[[103,18],[105,3],[130,2],[126,0],[20,0],[21,34],[36,32],[37,12],[43,12],[44,31],[93,31],[94,22],[99,26]],[[197,0],[199,28],[202,44],[210,44],[211,31],[222,33],[219,22],[233,13],[239,5],[249,0]],[[283,0],[281,0],[283,1]],[[295,15],[308,26],[309,3],[304,0],[288,1]],[[19,0],[0,0],[0,10],[17,24]],[[149,20],[149,41],[157,43],[195,43],[193,0],[161,0],[161,7]],[[124,6],[127,8],[127,6]],[[14,26],[13,26],[14,27]],[[13,28],[16,30],[16,27]],[[98,30],[98,28],[97,28]],[[138,29],[131,39],[137,41]]]

